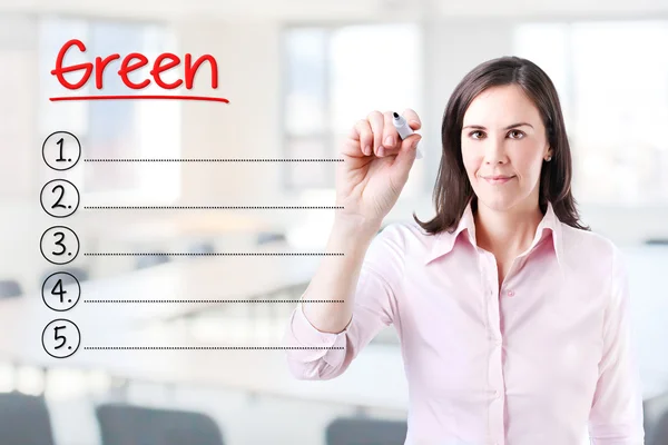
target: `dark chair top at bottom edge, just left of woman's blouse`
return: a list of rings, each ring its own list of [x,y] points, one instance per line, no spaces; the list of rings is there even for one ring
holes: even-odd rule
[[[327,445],[404,445],[407,425],[401,421],[335,418],[327,425]]]

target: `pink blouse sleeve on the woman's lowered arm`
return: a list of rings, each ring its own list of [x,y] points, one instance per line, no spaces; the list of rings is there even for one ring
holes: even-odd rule
[[[603,354],[589,416],[589,435],[597,445],[641,445],[645,441],[642,396],[631,346],[628,275],[616,247],[608,289]]]

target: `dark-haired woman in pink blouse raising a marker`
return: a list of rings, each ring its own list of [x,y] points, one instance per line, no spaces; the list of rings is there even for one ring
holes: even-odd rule
[[[443,117],[436,216],[376,236],[421,139],[399,139],[391,116],[371,112],[343,147],[327,251],[344,256],[303,297],[344,303],[295,309],[285,344],[318,348],[291,349],[292,373],[333,378],[393,324],[406,444],[641,444],[626,269],[578,221],[549,77],[517,57],[468,73]]]

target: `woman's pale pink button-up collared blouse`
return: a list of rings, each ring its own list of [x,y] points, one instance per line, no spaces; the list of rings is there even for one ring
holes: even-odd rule
[[[570,445],[588,433],[593,444],[642,444],[620,250],[549,205],[498,283],[470,204],[453,234],[391,224],[366,253],[345,330],[317,330],[301,306],[291,317],[285,345],[342,348],[288,350],[289,369],[336,377],[392,324],[409,384],[406,445]]]

